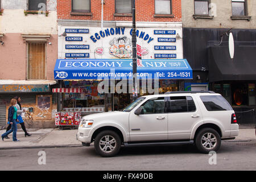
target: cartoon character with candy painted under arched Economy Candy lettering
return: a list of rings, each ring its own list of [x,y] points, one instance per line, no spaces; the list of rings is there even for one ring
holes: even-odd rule
[[[131,57],[133,55],[131,40],[126,36],[114,38],[109,43],[111,47],[109,48],[110,55],[115,57]]]

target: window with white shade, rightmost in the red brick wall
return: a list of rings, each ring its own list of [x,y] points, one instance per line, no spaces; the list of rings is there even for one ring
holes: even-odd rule
[[[172,14],[171,0],[155,0],[155,14]]]

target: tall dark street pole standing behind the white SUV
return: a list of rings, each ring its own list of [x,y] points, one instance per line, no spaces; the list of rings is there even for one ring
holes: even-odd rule
[[[137,35],[136,35],[136,17],[135,17],[135,0],[132,1],[133,3],[133,31],[131,34],[131,42],[133,44],[133,101],[138,98],[137,93]]]

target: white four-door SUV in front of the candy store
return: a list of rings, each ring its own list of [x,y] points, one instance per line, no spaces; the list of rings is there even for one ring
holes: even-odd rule
[[[97,154],[114,156],[121,145],[195,144],[217,151],[221,140],[238,135],[236,115],[214,92],[171,92],[139,97],[122,111],[82,117],[77,139],[94,142]]]

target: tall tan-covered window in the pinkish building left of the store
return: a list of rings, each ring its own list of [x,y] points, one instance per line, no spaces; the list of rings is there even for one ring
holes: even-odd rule
[[[46,79],[46,43],[27,43],[28,80]]]

